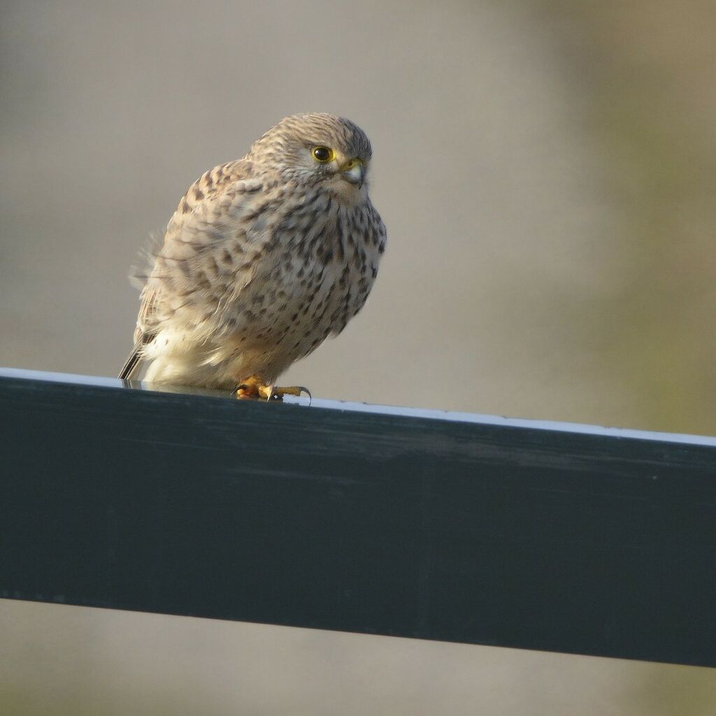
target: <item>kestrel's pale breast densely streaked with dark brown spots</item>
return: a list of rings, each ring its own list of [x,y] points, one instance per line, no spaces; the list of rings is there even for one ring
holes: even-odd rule
[[[379,239],[367,212],[324,203],[284,218],[270,243],[227,320],[244,341],[296,359],[361,309],[377,274]]]

